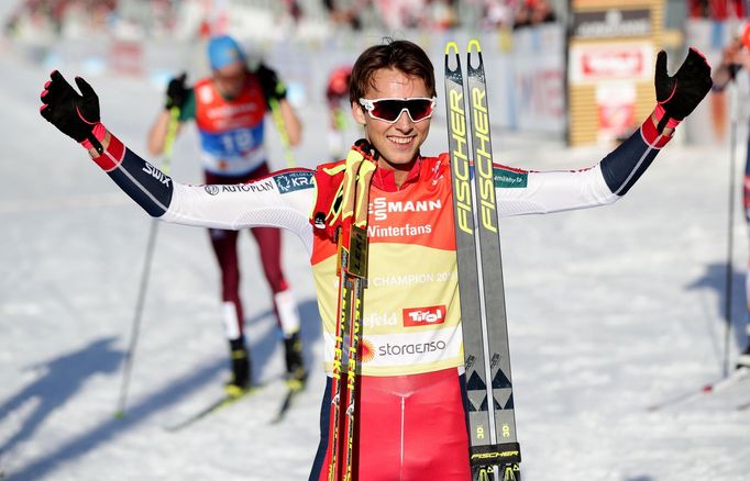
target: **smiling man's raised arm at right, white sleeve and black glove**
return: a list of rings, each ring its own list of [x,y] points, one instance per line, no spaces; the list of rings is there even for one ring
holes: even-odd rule
[[[677,124],[695,110],[712,87],[710,66],[691,48],[674,76],[666,54],[657,57],[657,105],[640,128],[593,167],[570,171],[523,171],[496,166],[500,216],[548,213],[609,204],[622,195],[672,139]]]

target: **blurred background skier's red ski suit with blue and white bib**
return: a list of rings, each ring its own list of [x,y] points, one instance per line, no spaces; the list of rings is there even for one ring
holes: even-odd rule
[[[256,75],[249,72],[242,92],[224,99],[210,78],[195,83],[180,111],[180,122],[195,120],[200,137],[201,163],[207,184],[246,183],[268,175],[264,118],[268,104]],[[263,272],[274,294],[276,318],[286,334],[298,329],[299,318],[282,270],[282,234],[277,228],[255,226]],[[209,228],[211,246],[221,269],[222,320],[230,340],[243,335],[240,299],[238,232]]]

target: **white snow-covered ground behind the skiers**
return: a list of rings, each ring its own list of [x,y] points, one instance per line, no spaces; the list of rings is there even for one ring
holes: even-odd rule
[[[152,221],[37,114],[46,70],[0,51],[0,479],[307,479],[323,372],[299,242],[285,237],[284,264],[312,373],[283,423],[271,423],[284,395],[282,350],[255,246],[243,235],[249,339],[257,380],[268,385],[189,428],[165,429],[220,395],[228,378],[208,236],[174,225],[158,227],[128,413],[114,418]],[[159,89],[135,78],[89,80],[107,125],[145,153]],[[302,166],[327,160],[322,112],[301,110]],[[445,148],[440,116],[432,128],[426,152],[435,153]],[[196,145],[186,130],[172,170],[180,181],[200,180]],[[495,149],[503,163],[536,169],[585,167],[607,150],[497,132]],[[749,479],[750,410],[736,406],[750,402],[750,381],[648,410],[723,373],[728,158],[727,147],[674,143],[613,206],[503,222],[525,480]],[[747,261],[736,202],[732,356],[745,343]]]

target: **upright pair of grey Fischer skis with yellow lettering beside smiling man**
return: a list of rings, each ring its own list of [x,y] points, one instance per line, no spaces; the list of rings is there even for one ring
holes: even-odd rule
[[[466,59],[464,87],[459,47],[454,42],[445,46],[445,102],[468,404],[468,457],[474,480],[499,477],[510,481],[520,479],[521,457],[510,376],[489,105],[477,41],[468,43]],[[470,156],[474,159],[473,183]]]

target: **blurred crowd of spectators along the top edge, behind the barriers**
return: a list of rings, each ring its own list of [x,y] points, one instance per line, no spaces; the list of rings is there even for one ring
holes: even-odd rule
[[[66,23],[79,25],[84,32],[104,31],[117,21],[124,21],[135,9],[148,12],[151,31],[169,32],[177,23],[179,10],[195,7],[216,16],[217,10],[229,11],[233,4],[275,10],[291,23],[310,15],[322,14],[334,27],[360,30],[382,27],[445,30],[462,26],[514,29],[555,20],[550,0],[16,0],[12,14],[5,19],[5,32],[43,30],[64,34]],[[196,7],[197,5],[197,7]],[[203,25],[205,26],[205,25]],[[206,30],[197,33],[206,34]]]

